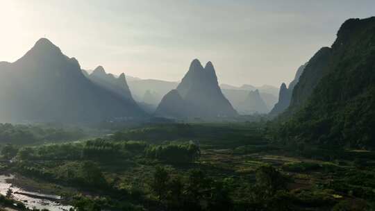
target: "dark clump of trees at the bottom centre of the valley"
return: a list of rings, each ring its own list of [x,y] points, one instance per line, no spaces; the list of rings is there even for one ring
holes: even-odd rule
[[[233,206],[224,184],[200,169],[190,170],[183,180],[163,167],[156,167],[151,188],[172,210],[231,210]]]

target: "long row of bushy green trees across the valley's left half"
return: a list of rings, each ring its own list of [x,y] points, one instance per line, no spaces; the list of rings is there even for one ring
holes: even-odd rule
[[[96,160],[113,161],[127,159],[135,155],[157,159],[169,163],[194,162],[200,155],[200,149],[193,143],[169,142],[162,145],[147,144],[139,141],[114,142],[96,139],[67,144],[44,144],[42,146],[13,145],[3,147],[4,158],[22,160]]]

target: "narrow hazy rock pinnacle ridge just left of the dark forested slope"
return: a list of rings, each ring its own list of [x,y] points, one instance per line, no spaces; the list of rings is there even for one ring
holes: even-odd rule
[[[297,73],[294,76],[294,80],[290,82],[289,86],[287,87],[285,83],[281,84],[280,92],[278,94],[278,102],[274,105],[274,108],[272,108],[271,112],[269,112],[269,115],[272,117],[275,117],[282,112],[284,112],[290,105],[290,100],[292,99],[292,93],[294,90],[295,85],[299,82],[299,78],[301,77],[301,74],[303,73],[304,69],[306,68],[306,64],[301,65],[297,69]]]

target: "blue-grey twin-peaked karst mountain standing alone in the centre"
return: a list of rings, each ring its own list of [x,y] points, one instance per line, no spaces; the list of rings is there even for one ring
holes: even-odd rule
[[[231,103],[222,94],[222,90],[217,82],[215,69],[211,62],[208,62],[206,67],[203,68],[199,60],[193,60],[188,72],[176,90],[172,90],[163,97],[156,110],[156,115],[164,117],[219,117],[237,115]],[[175,106],[170,103],[174,103]],[[185,108],[186,105],[188,108]],[[174,112],[167,113],[167,108],[171,106],[175,108]],[[176,112],[178,112],[178,115]]]

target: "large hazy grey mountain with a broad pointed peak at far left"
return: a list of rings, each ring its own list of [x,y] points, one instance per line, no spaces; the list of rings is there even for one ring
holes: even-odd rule
[[[135,103],[95,85],[78,61],[42,38],[22,58],[0,65],[0,121],[103,121],[140,117]]]

